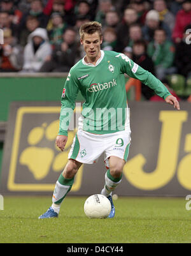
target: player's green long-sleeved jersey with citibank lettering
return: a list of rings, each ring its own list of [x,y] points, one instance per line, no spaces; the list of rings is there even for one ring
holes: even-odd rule
[[[124,73],[139,79],[164,99],[171,95],[159,79],[129,57],[101,50],[95,65],[83,58],[67,76],[61,98],[59,135],[67,135],[79,91],[85,102],[78,129],[95,134],[130,130]]]

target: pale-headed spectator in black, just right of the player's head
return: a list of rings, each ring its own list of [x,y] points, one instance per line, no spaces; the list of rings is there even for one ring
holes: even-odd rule
[[[124,50],[129,43],[129,26],[138,21],[138,13],[132,8],[127,8],[124,11],[124,19],[119,24],[117,29],[118,52]]]

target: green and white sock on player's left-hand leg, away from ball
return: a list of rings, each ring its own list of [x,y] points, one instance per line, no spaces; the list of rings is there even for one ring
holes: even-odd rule
[[[52,196],[52,208],[56,213],[59,214],[62,201],[66,197],[67,193],[71,190],[73,182],[74,177],[71,179],[66,179],[62,176],[62,174],[60,174],[60,177],[55,184],[55,190]]]

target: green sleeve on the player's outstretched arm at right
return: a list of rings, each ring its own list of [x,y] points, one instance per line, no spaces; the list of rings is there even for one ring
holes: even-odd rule
[[[125,56],[125,54],[118,54],[115,57],[118,57],[120,62],[120,70],[122,73],[126,73],[129,75],[129,77],[140,80],[143,82],[143,84],[153,89],[155,94],[159,95],[164,100],[167,96],[171,95],[166,86],[164,86],[164,84],[162,84],[157,77],[152,75],[152,73],[148,72],[147,70],[144,70],[144,68],[141,68],[141,66],[138,64],[134,63],[134,61]]]

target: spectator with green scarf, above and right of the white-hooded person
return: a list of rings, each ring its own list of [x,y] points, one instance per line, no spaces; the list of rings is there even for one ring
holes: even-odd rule
[[[52,45],[62,43],[62,34],[66,30],[67,24],[63,21],[60,13],[52,13],[51,15],[52,29],[48,31],[48,37]]]

